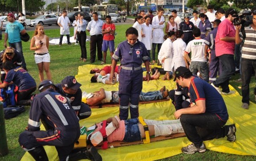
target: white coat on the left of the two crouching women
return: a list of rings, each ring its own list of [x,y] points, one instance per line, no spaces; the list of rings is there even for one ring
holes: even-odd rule
[[[173,49],[172,40],[167,38],[158,53],[158,60],[162,62],[164,60],[163,68],[165,71],[172,71],[172,59],[173,59]]]

